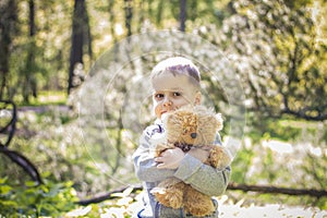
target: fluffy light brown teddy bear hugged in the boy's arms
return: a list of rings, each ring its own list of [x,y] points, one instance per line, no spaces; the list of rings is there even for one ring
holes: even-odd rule
[[[228,149],[214,144],[217,132],[222,129],[220,113],[216,114],[204,106],[182,107],[167,113],[164,126],[165,143],[157,144],[155,156],[169,148],[179,147],[187,153],[192,147],[197,147],[209,152],[205,165],[225,169],[231,164]],[[152,194],[160,204],[172,208],[183,207],[185,213],[193,216],[203,217],[215,211],[210,196],[177,178],[164,180],[153,189]]]

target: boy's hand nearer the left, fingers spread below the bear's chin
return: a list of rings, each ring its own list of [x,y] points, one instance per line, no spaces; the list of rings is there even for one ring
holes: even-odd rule
[[[177,169],[180,167],[185,154],[179,147],[165,150],[159,157],[155,158],[158,169]]]

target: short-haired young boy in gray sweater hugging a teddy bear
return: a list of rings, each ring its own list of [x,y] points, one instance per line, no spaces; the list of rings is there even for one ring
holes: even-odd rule
[[[152,143],[152,138],[165,132],[161,117],[182,106],[201,104],[199,82],[198,69],[182,57],[164,60],[152,72],[150,83],[157,121],[144,131],[140,146],[133,155],[136,175],[144,181],[144,190],[147,192],[145,208],[137,214],[137,217],[192,217],[184,214],[182,208],[173,209],[160,205],[150,194],[153,187],[169,177],[175,177],[210,196],[221,195],[227,187],[230,168],[221,171],[204,165],[203,161],[208,157],[206,150],[192,148],[184,154],[177,147],[165,150],[160,157],[153,156],[156,145]],[[216,201],[214,204],[218,207]],[[218,217],[218,209],[207,217]]]

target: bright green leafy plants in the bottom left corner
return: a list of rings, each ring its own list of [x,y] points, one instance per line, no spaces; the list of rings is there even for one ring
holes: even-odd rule
[[[44,184],[26,181],[12,184],[0,178],[0,208],[4,217],[61,217],[76,207],[72,182],[52,182],[44,173]]]

